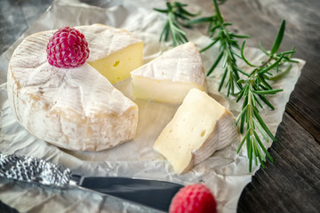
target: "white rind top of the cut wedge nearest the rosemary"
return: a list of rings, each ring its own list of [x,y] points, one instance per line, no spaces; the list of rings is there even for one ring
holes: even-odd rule
[[[174,70],[174,72],[172,72]],[[204,67],[194,43],[184,43],[171,51],[132,71],[133,76],[148,77],[157,81],[170,80],[180,83],[196,83],[205,87]]]

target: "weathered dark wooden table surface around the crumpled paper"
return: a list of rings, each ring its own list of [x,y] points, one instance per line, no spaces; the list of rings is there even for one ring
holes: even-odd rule
[[[94,1],[83,1],[92,4]],[[102,2],[102,1],[100,1]],[[190,1],[191,2],[191,1]],[[25,32],[52,0],[0,1],[0,54]],[[199,4],[211,5],[209,0]],[[220,6],[233,30],[251,35],[270,49],[281,20],[287,21],[281,50],[296,46],[305,59],[299,82],[286,106],[267,162],[244,188],[238,212],[320,212],[320,1],[228,0]]]

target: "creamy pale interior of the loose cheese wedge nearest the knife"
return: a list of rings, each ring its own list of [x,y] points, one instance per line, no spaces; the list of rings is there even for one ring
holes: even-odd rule
[[[193,166],[194,152],[207,153],[203,146],[211,148],[210,143],[216,143],[217,122],[226,115],[232,116],[227,108],[204,91],[192,89],[156,139],[154,149],[164,155],[177,173],[185,172]]]

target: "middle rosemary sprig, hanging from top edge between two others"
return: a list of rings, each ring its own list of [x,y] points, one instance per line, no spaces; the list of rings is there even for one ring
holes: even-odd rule
[[[217,0],[212,0],[212,4],[215,8],[214,15],[196,20],[190,20],[188,23],[209,23],[208,35],[212,38],[212,43],[204,47],[201,52],[210,49],[215,43],[219,43],[220,54],[217,59],[214,60],[212,67],[207,72],[207,76],[211,75],[215,67],[217,67],[219,62],[222,61],[224,73],[220,81],[219,91],[221,91],[222,86],[225,84],[225,86],[228,87],[228,96],[229,94],[234,95],[236,94],[236,88],[239,91],[243,89],[242,84],[238,83],[240,79],[239,73],[247,75],[236,65],[236,57],[241,58],[241,56],[239,56],[235,51],[235,49],[240,50],[236,38],[248,38],[250,36],[241,36],[230,32],[227,27],[232,25],[232,23],[225,22],[223,20]]]

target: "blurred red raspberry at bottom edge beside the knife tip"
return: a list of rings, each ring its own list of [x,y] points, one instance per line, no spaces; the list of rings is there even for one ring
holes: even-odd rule
[[[170,213],[216,213],[217,203],[203,184],[187,185],[173,197]]]

